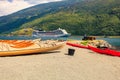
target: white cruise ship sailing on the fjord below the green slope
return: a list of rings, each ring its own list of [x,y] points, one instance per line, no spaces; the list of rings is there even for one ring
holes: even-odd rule
[[[70,34],[67,33],[65,29],[58,28],[57,30],[53,31],[34,30],[32,36],[44,39],[44,38],[69,37]]]

